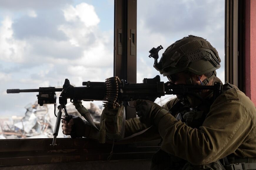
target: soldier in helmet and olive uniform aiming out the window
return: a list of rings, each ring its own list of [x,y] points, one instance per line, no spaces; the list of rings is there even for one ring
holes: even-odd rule
[[[197,36],[169,46],[155,68],[174,84],[221,82],[215,71],[220,68],[218,52]],[[74,105],[83,107],[81,102]],[[149,100],[136,100],[134,106],[139,119],[126,120],[125,136],[151,128],[126,142],[162,138],[151,169],[256,169],[255,105],[234,85],[223,85],[216,100],[211,90],[201,90],[177,95],[162,107]],[[78,137],[99,139],[79,117],[64,121],[63,133],[69,135],[73,124]]]

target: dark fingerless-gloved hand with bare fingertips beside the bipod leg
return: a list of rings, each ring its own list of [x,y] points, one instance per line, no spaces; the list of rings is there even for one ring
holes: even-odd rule
[[[63,134],[71,135],[71,138],[89,137],[91,125],[81,117],[74,116],[69,122],[62,120]]]

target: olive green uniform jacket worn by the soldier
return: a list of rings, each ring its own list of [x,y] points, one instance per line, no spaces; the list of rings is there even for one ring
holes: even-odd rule
[[[177,98],[170,100],[163,108],[169,110],[176,102]],[[127,142],[161,137],[163,151],[193,165],[206,165],[230,154],[241,158],[256,157],[255,105],[237,88],[230,88],[217,97],[198,129],[187,126],[172,115],[162,117],[158,129],[152,126]],[[125,136],[146,128],[138,118],[128,119]]]

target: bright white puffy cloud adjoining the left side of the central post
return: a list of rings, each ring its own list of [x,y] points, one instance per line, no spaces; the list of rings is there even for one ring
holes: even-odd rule
[[[84,48],[81,58],[74,60],[73,63],[80,63],[87,68],[111,67],[113,65],[113,52],[109,48],[111,33],[99,30],[100,20],[94,7],[81,3],[75,7],[67,6],[63,12],[68,23],[62,24],[59,30],[66,34],[73,46]]]

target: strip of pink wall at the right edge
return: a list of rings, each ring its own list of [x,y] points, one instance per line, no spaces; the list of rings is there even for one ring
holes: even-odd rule
[[[256,105],[256,0],[245,1],[245,94]]]

